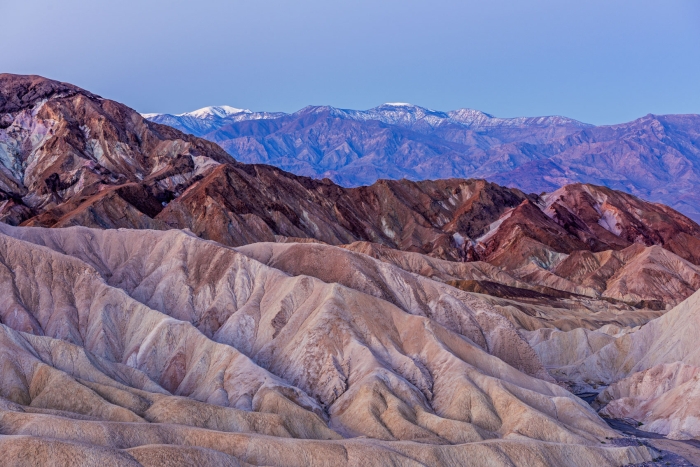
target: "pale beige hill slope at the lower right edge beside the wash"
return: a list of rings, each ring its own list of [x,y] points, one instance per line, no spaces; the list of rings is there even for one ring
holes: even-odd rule
[[[576,391],[609,385],[596,402],[602,414],[630,418],[642,430],[674,438],[699,438],[699,328],[700,291],[632,332],[528,337],[551,373]]]

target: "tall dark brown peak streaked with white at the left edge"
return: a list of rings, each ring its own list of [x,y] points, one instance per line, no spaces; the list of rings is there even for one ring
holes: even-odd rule
[[[0,75],[0,219],[162,228],[152,218],[213,165],[216,145],[36,76]]]

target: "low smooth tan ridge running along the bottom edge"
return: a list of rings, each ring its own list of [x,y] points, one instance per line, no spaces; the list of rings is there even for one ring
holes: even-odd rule
[[[313,442],[183,429],[174,425],[142,427],[112,422],[71,423],[52,416],[33,418],[34,423],[21,416],[8,420],[12,429],[17,427],[16,431],[31,434],[0,435],[0,448],[8,458],[6,465],[24,467],[37,463],[79,462],[88,466],[159,467],[216,462],[213,465],[588,467],[637,464],[657,455],[644,446],[534,444],[527,440],[455,446],[367,439]],[[141,444],[143,440],[149,444]]]

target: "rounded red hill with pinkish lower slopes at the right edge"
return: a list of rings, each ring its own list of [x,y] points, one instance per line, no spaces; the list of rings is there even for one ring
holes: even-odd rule
[[[474,254],[523,282],[664,309],[700,288],[698,239],[666,206],[575,184],[506,210]]]

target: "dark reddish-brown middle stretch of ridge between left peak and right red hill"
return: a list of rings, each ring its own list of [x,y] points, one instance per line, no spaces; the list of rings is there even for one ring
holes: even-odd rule
[[[458,230],[477,234],[523,199],[517,190],[482,180],[380,181],[344,189],[267,166],[222,165],[156,219],[232,246],[275,235],[334,245],[365,240],[458,260],[464,256]]]

